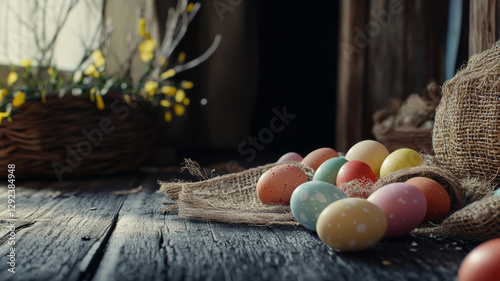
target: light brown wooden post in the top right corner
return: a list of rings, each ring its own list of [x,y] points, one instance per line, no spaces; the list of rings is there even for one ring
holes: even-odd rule
[[[470,0],[469,56],[490,48],[500,38],[500,1]]]

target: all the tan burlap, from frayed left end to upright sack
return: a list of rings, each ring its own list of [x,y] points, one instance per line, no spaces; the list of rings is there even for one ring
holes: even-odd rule
[[[424,164],[391,173],[370,189],[352,183],[350,195],[371,193],[385,184],[416,176],[428,177],[448,191],[451,210],[441,223],[424,223],[414,234],[478,241],[500,237],[500,197],[492,196],[500,183],[500,41],[472,56],[467,66],[443,85],[433,147],[436,156],[425,156]],[[312,178],[311,168],[293,164]],[[257,197],[257,181],[276,165],[199,182],[159,182],[158,192],[173,200],[168,209],[176,210],[181,218],[298,225],[289,206],[267,206]],[[200,172],[197,167],[190,170]]]

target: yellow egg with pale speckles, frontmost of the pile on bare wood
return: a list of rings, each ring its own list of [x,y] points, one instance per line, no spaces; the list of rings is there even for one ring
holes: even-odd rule
[[[382,239],[386,228],[384,212],[361,198],[333,202],[321,212],[316,223],[319,238],[330,247],[345,252],[371,247]]]

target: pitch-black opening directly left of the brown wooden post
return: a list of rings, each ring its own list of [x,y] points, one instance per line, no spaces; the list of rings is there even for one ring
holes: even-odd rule
[[[260,84],[252,135],[273,108],[296,117],[266,149],[305,154],[335,146],[338,1],[258,1]]]

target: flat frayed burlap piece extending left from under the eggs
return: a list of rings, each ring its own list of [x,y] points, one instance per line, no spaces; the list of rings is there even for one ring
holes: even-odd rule
[[[314,175],[314,170],[303,164],[286,164],[300,167],[309,180]],[[278,165],[283,163],[271,163],[199,182],[158,182],[158,193],[175,201],[165,210],[177,211],[180,218],[253,225],[298,225],[290,206],[265,205],[257,196],[255,188],[260,176]],[[197,173],[196,167],[194,171],[189,170],[192,174]]]

